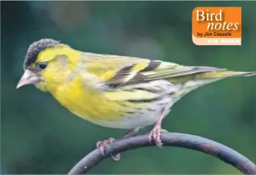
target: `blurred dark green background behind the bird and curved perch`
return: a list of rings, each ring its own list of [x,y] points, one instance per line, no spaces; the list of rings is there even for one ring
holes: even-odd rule
[[[242,7],[242,46],[193,44],[192,10],[202,6]],[[1,174],[67,174],[98,140],[126,132],[75,117],[31,85],[16,90],[31,42],[53,38],[86,52],[255,71],[255,11],[255,1],[1,1]],[[163,127],[219,141],[255,162],[255,87],[255,77],[206,85],[178,101]],[[240,172],[201,152],[150,147],[90,173]]]

